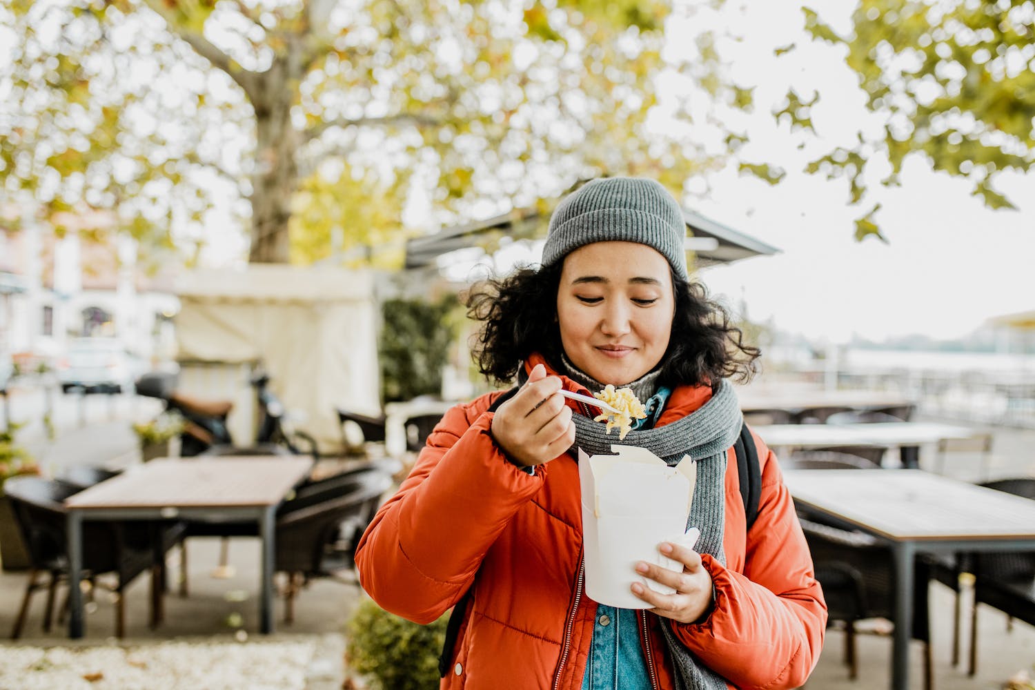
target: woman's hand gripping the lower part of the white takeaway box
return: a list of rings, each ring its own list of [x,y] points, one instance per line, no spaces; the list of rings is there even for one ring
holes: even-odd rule
[[[652,613],[679,621],[697,623],[712,606],[711,573],[701,564],[701,554],[692,548],[663,542],[658,550],[674,561],[683,564],[682,572],[661,568],[641,561],[637,572],[660,584],[676,590],[675,594],[659,594],[641,582],[632,583],[632,594],[651,604]]]

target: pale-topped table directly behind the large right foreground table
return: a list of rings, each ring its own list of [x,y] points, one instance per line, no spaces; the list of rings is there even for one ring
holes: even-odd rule
[[[910,470],[920,467],[921,445],[943,439],[970,439],[974,434],[974,430],[966,426],[928,422],[760,424],[751,428],[770,448],[895,447],[903,467]]]

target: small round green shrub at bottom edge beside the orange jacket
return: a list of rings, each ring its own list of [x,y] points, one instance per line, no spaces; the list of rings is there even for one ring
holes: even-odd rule
[[[417,625],[367,599],[349,620],[350,665],[373,677],[374,687],[382,690],[437,688],[448,620],[443,616],[431,625]]]

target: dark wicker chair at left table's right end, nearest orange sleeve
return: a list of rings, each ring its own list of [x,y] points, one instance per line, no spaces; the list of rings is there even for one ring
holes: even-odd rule
[[[314,482],[285,502],[276,519],[274,554],[276,571],[286,575],[285,623],[294,622],[295,597],[314,578],[356,583],[359,538],[390,486],[388,474],[364,468]]]

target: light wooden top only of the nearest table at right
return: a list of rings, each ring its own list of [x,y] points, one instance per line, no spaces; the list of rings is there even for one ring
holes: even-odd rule
[[[1035,540],[1035,501],[922,470],[786,470],[795,503],[897,541]]]

